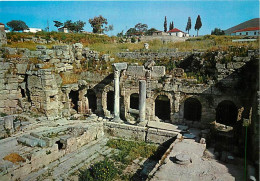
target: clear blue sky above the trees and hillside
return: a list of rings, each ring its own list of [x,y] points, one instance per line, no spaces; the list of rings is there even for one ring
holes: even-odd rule
[[[102,15],[108,24],[114,25],[109,33],[145,23],[148,28],[163,30],[164,16],[168,25],[185,31],[188,17],[191,17],[191,34],[195,34],[194,25],[201,16],[200,34],[210,34],[215,27],[223,30],[234,25],[259,17],[259,1],[0,1],[0,22],[22,20],[31,28],[42,28],[49,21],[50,30],[56,30],[53,20],[82,20],[86,22],[85,31],[92,31],[89,18]],[[169,27],[169,26],[168,26]]]

